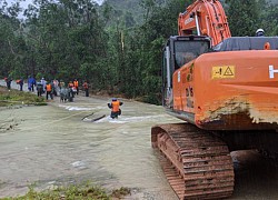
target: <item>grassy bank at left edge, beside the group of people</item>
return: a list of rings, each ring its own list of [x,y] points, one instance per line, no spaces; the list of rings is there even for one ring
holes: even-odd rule
[[[39,98],[33,93],[19,90],[8,91],[7,88],[0,87],[0,107],[14,104],[46,106],[47,103],[43,98]]]

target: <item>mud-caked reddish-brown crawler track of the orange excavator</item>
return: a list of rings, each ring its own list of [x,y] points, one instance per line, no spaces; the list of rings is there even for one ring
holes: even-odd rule
[[[156,126],[151,142],[162,153],[165,174],[179,199],[221,199],[234,191],[228,147],[193,124]]]

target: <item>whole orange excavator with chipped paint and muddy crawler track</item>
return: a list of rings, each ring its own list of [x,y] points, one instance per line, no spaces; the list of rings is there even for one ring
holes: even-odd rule
[[[218,0],[179,14],[163,48],[162,104],[183,123],[151,129],[180,199],[220,199],[235,184],[230,151],[278,154],[278,38],[231,37]]]

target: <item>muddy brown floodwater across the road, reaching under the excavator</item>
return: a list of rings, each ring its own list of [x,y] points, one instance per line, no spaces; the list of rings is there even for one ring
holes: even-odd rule
[[[31,184],[41,190],[91,181],[131,188],[126,199],[177,200],[151,148],[150,129],[179,120],[161,107],[130,100],[122,100],[122,116],[112,120],[109,101],[80,93],[75,102],[54,98],[46,107],[1,109],[0,197],[23,194]],[[236,187],[229,199],[278,199],[276,162],[256,151],[232,158]]]

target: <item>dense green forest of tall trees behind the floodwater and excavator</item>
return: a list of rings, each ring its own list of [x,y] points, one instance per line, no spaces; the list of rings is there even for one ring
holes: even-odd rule
[[[160,103],[161,48],[192,0],[0,0],[0,76],[88,80],[93,91]],[[222,0],[232,36],[278,34],[278,8]]]

